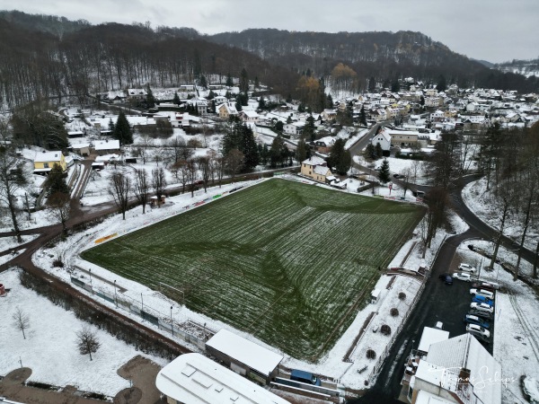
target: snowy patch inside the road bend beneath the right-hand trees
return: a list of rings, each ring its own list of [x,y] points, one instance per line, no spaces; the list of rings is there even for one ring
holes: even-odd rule
[[[487,192],[487,180],[482,178],[469,183],[463,189],[463,200],[466,206],[490,227],[499,229],[499,208],[496,207],[492,194]],[[520,243],[522,237],[522,224],[514,216],[509,215],[506,220],[504,234]],[[535,250],[539,241],[539,226],[530,225],[526,233],[525,246]]]

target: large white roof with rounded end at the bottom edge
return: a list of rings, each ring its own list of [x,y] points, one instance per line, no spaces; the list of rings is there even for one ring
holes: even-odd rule
[[[157,373],[155,386],[179,402],[285,404],[263,387],[200,354],[178,356]]]

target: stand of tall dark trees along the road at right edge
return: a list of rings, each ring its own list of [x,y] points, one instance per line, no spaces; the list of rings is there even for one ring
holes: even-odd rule
[[[520,247],[517,277],[526,236],[539,224],[539,124],[524,129],[503,129],[495,124],[473,139],[462,133],[442,134],[427,165],[435,187],[426,198],[429,213],[425,240],[428,244],[445,220],[449,189],[455,187],[473,163],[485,175],[489,204],[497,213],[498,235],[493,240],[490,267],[497,259],[508,224],[517,225],[522,230],[517,241]],[[539,242],[535,251],[539,254]],[[537,255],[535,257],[534,277],[537,277],[539,262]]]

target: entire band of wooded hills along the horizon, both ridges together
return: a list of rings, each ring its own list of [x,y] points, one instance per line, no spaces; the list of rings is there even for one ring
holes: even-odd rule
[[[366,90],[372,78],[391,83],[411,76],[437,83],[442,75],[447,84],[461,87],[539,91],[536,77],[489,69],[411,31],[247,30],[207,36],[190,28],[91,25],[64,17],[0,12],[0,52],[0,97],[9,107],[39,97],[61,102],[68,94],[83,98],[87,92],[146,83],[178,86],[202,75],[225,83],[228,75],[240,77],[243,69],[250,80],[299,98],[300,92],[318,85],[305,78],[301,82],[302,75],[331,83],[336,73],[352,91]]]

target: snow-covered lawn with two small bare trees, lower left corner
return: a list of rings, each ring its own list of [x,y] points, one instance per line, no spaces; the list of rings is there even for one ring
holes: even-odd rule
[[[102,344],[90,361],[89,356],[81,355],[76,346],[75,333],[82,329],[84,321],[22,286],[18,270],[0,273],[0,283],[11,288],[4,298],[0,298],[0,312],[4,319],[0,328],[0,374],[5,375],[22,364],[31,368],[32,382],[75,385],[80,390],[108,396],[129,387],[128,380],[117,374],[119,367],[133,356],[146,355],[107,332],[89,326]],[[22,338],[22,331],[12,324],[17,308],[29,317],[26,339]],[[146,357],[157,364],[165,364],[161,358]]]

